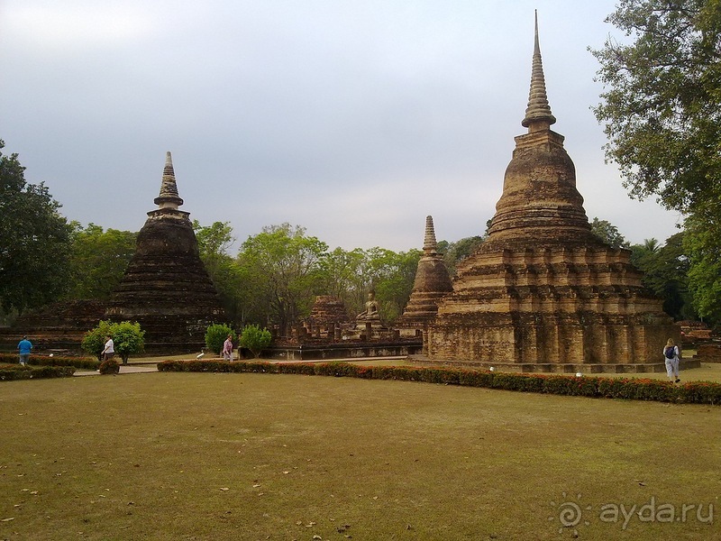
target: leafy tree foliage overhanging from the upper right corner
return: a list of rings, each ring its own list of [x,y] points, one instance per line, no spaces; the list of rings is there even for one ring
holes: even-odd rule
[[[721,199],[721,6],[718,0],[621,0],[607,17],[630,38],[600,62],[607,159],[632,197],[693,213]]]

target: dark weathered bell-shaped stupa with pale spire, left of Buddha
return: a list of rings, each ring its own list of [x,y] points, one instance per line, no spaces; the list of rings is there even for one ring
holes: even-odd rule
[[[160,184],[158,206],[138,234],[135,255],[108,303],[105,316],[137,321],[145,330],[146,351],[187,353],[205,347],[205,330],[224,323],[220,298],[198,254],[189,213],[170,152]]]

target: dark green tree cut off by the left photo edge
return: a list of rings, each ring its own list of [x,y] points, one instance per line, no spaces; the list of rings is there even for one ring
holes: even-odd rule
[[[17,154],[0,151],[0,311],[19,314],[67,289],[70,246],[59,203],[43,183],[28,184],[24,170]]]

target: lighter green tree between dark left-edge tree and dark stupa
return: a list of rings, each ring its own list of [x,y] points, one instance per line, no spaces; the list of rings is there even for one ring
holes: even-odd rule
[[[71,222],[67,298],[104,300],[117,287],[135,253],[137,233]]]

